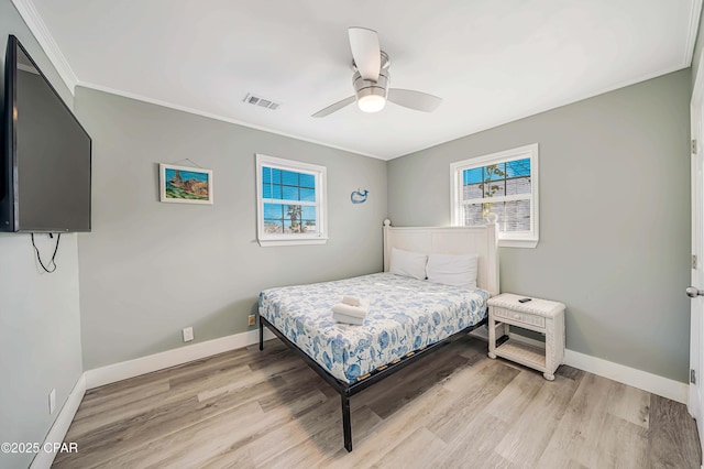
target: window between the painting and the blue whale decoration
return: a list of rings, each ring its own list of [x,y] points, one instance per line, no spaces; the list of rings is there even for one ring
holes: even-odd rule
[[[257,154],[256,192],[261,246],[328,240],[324,166]]]

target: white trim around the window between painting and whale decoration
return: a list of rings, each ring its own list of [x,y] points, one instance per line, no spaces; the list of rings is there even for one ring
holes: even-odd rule
[[[264,232],[264,197],[262,194],[262,167],[276,167],[278,170],[295,171],[296,173],[309,173],[316,177],[316,200],[318,214],[316,223],[319,232],[315,234],[273,234]],[[301,246],[324,244],[328,242],[328,186],[327,168],[317,164],[301,163],[293,160],[256,154],[256,238],[261,247],[274,246]],[[296,200],[299,205],[311,205]]]

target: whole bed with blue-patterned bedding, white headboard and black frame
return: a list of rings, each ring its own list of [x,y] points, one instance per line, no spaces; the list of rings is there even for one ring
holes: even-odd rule
[[[395,249],[476,254],[476,288],[391,273]],[[344,447],[351,451],[350,397],[486,324],[486,301],[498,290],[495,225],[395,228],[386,220],[383,273],[260,293],[260,350],[266,326],[338,391]],[[330,308],[342,295],[364,298],[364,324],[333,320]]]

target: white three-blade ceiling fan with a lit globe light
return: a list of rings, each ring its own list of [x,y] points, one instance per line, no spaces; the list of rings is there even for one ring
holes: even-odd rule
[[[334,105],[319,110],[312,117],[321,118],[339,111],[356,101],[364,112],[378,112],[384,109],[386,100],[417,111],[435,111],[442,98],[411,89],[388,88],[391,59],[381,50],[376,31],[366,28],[348,29],[350,47],[352,48],[352,85],[354,96],[344,98]]]

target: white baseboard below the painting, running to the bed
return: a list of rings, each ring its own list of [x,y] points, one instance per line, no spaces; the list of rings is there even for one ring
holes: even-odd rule
[[[266,328],[264,329],[264,340],[273,339],[274,337],[276,336],[274,336],[272,331]],[[177,349],[136,358],[134,360],[96,368],[84,373],[86,377],[86,388],[90,390],[127,380],[129,378],[139,377],[140,374],[176,367],[194,360],[200,360],[201,358],[256,343],[258,340],[258,329],[248,330],[246,332],[234,334],[232,336],[179,347]]]

